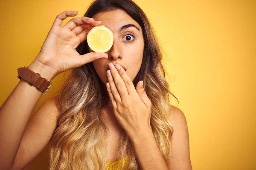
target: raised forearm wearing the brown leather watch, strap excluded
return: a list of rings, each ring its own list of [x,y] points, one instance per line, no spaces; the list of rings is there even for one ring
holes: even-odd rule
[[[29,69],[52,80],[40,65],[31,63]],[[17,78],[18,79],[18,78]],[[15,89],[0,107],[0,170],[12,166],[29,118],[43,92],[20,79]]]

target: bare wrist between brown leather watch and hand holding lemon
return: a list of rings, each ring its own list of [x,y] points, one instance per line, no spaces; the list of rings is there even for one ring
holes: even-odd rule
[[[56,77],[56,74],[49,70],[46,65],[43,65],[40,62],[34,60],[30,65],[29,69],[34,71],[35,73],[40,74],[41,77],[47,79],[49,82]]]

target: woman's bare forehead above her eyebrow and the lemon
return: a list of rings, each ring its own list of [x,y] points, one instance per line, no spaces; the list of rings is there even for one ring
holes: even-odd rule
[[[93,18],[97,21],[102,21],[102,25],[105,25],[112,31],[118,31],[119,28],[126,24],[134,24],[141,30],[140,25],[126,11],[123,11],[122,9],[113,9],[111,11],[99,12],[93,15]]]

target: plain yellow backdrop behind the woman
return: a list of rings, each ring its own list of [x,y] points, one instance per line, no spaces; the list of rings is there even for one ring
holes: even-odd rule
[[[1,105],[19,82],[17,68],[35,59],[55,17],[66,10],[80,17],[90,2],[0,2]],[[171,104],[186,116],[193,170],[255,169],[256,1],[135,2],[166,51],[166,79],[180,102],[172,97]],[[52,80],[35,111],[55,95],[62,77]],[[46,170],[48,148],[25,170]]]

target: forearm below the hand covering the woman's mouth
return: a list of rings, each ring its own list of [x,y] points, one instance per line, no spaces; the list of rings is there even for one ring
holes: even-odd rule
[[[151,128],[131,139],[141,170],[169,170]]]

